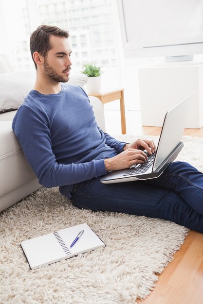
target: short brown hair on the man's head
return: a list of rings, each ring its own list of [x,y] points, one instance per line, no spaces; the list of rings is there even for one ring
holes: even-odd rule
[[[61,30],[57,26],[44,24],[38,26],[37,30],[34,31],[30,36],[30,51],[32,54],[32,59],[35,51],[46,58],[48,51],[52,49],[52,45],[49,41],[50,35],[68,38],[69,32]],[[34,64],[37,69],[37,64],[35,61]]]

